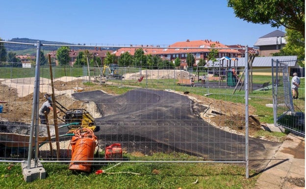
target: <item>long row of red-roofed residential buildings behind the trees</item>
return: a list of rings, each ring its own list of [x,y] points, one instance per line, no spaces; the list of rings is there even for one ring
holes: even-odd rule
[[[157,46],[130,45],[129,47],[119,48],[117,51],[114,51],[114,52],[110,50],[103,50],[101,48],[96,48],[96,50],[88,50],[88,51],[90,54],[95,54],[96,56],[99,56],[103,60],[107,52],[111,52],[112,54],[115,54],[115,56],[120,57],[121,54],[124,54],[126,52],[128,52],[131,55],[134,55],[137,49],[142,49],[144,51],[144,55],[149,55],[149,54],[158,55],[162,59],[169,60],[173,63],[176,58],[179,58],[181,61],[180,67],[186,68],[187,54],[194,55],[195,57],[194,66],[197,66],[200,59],[204,59],[206,62],[208,62],[208,54],[210,53],[212,48],[215,48],[218,50],[218,54],[216,54],[216,58],[221,58],[224,56],[235,57],[235,58],[244,57],[244,54],[245,54],[245,50],[238,49],[238,48],[244,48],[244,46],[241,46],[241,45],[227,46],[227,45],[220,43],[219,41],[212,41],[208,39],[195,40],[195,41],[190,41],[189,39],[187,39],[186,41],[176,42],[172,45],[168,45],[165,47],[160,47],[159,45]],[[70,65],[74,64],[78,53],[81,51],[84,51],[84,50],[71,50],[69,54],[71,57]],[[249,53],[258,54],[258,51],[253,48],[249,48]],[[51,57],[56,59],[56,51],[51,52]]]

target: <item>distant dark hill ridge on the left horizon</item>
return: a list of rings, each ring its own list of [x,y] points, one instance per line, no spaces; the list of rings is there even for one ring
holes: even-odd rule
[[[37,41],[40,41],[41,44],[45,44],[46,46],[42,46],[41,49],[49,50],[49,51],[55,51],[61,46],[48,46],[48,44],[52,45],[85,45],[85,44],[72,44],[72,43],[64,43],[64,42],[55,42],[55,41],[46,41],[46,40],[38,40],[38,39],[29,39],[29,38],[13,38],[11,40],[8,40],[10,42],[17,42],[17,43],[30,43],[34,44],[37,43]],[[33,45],[26,45],[26,44],[11,44],[11,43],[4,43],[5,49],[7,51],[22,51],[26,49],[33,49]],[[73,47],[73,49],[88,49],[88,50],[94,50],[95,47]],[[106,48],[102,48],[106,49]],[[107,48],[108,50],[117,50],[118,48]]]

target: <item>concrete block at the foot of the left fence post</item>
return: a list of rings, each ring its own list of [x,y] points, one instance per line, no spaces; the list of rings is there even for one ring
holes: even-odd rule
[[[46,178],[46,170],[41,164],[41,162],[37,162],[37,167],[35,167],[34,160],[31,160],[30,168],[27,168],[27,161],[21,163],[21,167],[23,170],[24,180],[28,182],[32,182],[36,179],[45,179]]]

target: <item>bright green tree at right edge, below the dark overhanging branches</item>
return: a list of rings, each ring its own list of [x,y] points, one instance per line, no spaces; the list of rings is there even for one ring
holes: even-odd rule
[[[305,40],[299,31],[287,29],[285,39],[287,44],[280,49],[279,53],[272,53],[273,56],[297,55],[298,64],[305,67]]]

